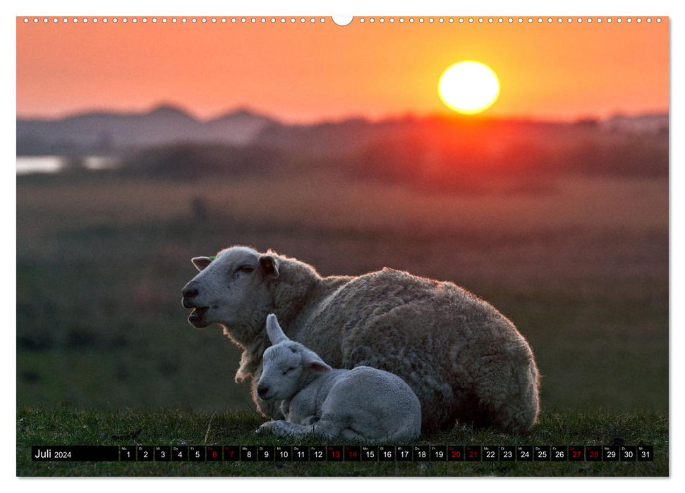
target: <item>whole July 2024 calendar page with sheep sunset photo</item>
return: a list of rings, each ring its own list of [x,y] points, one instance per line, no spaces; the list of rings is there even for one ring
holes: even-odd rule
[[[18,476],[669,475],[667,16],[20,15],[16,239]]]

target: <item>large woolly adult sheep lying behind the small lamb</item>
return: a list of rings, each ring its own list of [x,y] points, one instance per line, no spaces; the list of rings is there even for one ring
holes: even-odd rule
[[[183,288],[191,325],[222,325],[243,349],[236,382],[251,379],[257,408],[282,418],[256,392],[265,322],[274,313],[286,335],[334,368],[370,366],[405,380],[421,403],[423,432],[456,420],[522,432],[538,416],[538,368],[514,324],[452,282],[399,270],[321,277],[295,258],[233,246],[196,257],[200,271]]]

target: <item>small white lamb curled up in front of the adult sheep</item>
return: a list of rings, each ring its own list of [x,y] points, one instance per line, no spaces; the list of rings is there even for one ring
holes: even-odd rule
[[[273,346],[264,352],[257,394],[280,401],[286,420],[268,421],[257,433],[365,443],[418,438],[421,404],[400,377],[368,366],[334,370],[314,351],[288,339],[273,313],[267,316],[267,335]]]

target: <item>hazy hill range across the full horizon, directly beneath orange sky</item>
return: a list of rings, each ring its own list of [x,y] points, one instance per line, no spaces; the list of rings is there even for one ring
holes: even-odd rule
[[[348,154],[379,141],[423,139],[473,144],[473,136],[499,148],[502,142],[561,139],[578,129],[614,134],[657,135],[668,132],[668,114],[614,116],[578,123],[490,120],[458,116],[404,116],[370,122],[353,118],[309,125],[287,125],[247,109],[212,120],[198,120],[176,106],[162,105],[143,113],[92,111],[59,119],[17,118],[17,154],[117,153],[146,147],[212,142],[231,146],[259,145],[319,156]],[[570,134],[569,134],[570,131]]]

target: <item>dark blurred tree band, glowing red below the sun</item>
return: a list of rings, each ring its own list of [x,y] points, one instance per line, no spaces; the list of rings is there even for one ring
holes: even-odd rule
[[[335,171],[358,180],[483,189],[497,182],[537,186],[562,174],[662,177],[669,166],[667,133],[606,132],[594,122],[355,120],[286,127],[273,142],[263,137],[241,146],[183,142],[133,150],[119,173],[192,180]]]

